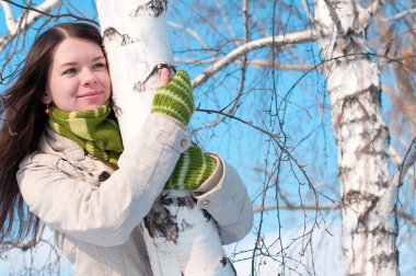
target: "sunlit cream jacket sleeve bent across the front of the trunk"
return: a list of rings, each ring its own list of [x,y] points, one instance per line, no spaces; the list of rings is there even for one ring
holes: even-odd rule
[[[100,186],[43,162],[42,153],[24,159],[16,179],[30,210],[50,228],[88,243],[126,242],[189,147],[190,136],[173,120],[151,114],[132,140],[119,169]]]

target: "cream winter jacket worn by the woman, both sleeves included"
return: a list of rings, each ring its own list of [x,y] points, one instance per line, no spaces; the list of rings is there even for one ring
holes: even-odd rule
[[[189,146],[187,130],[151,114],[113,171],[47,128],[16,177],[30,210],[55,230],[76,275],[152,275],[139,223]],[[226,244],[251,230],[253,211],[239,174],[217,160],[212,177],[195,197]]]

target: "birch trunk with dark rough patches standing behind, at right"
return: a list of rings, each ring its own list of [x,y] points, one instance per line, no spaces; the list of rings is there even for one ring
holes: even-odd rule
[[[325,33],[320,46],[338,148],[347,275],[398,275],[397,185],[388,168],[380,70],[360,21],[368,11],[353,0],[315,4],[316,26]]]

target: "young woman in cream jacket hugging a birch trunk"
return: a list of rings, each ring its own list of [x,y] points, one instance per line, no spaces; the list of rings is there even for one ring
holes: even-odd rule
[[[251,202],[232,166],[190,146],[187,74],[167,82],[162,71],[152,114],[131,145],[122,145],[101,45],[91,25],[54,26],[35,41],[3,95],[1,241],[16,231],[15,221],[16,242],[45,223],[77,275],[151,275],[138,226],[164,187],[194,191],[222,243],[242,239],[252,227]],[[182,105],[172,104],[178,97]],[[198,181],[182,186],[177,179],[193,161],[203,163]]]

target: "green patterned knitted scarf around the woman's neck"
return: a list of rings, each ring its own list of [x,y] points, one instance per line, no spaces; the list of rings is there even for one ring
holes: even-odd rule
[[[103,106],[83,112],[65,112],[53,106],[49,126],[59,135],[80,145],[88,153],[118,169],[123,151],[118,124],[107,102]]]

